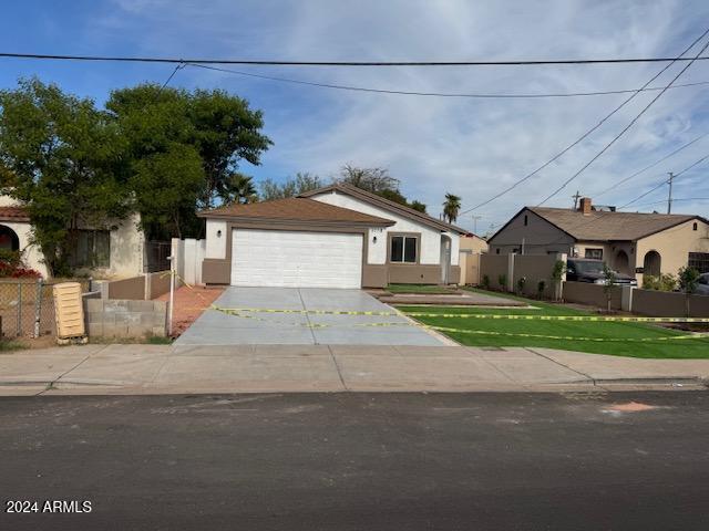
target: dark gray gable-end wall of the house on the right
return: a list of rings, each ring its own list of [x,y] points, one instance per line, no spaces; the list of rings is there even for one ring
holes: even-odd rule
[[[524,217],[527,217],[527,225],[524,225]],[[574,239],[563,230],[549,223],[544,218],[531,210],[522,210],[510,220],[506,227],[501,229],[487,242],[490,253],[510,254],[522,252],[522,240],[524,240],[525,254],[549,254],[565,252],[571,254]]]

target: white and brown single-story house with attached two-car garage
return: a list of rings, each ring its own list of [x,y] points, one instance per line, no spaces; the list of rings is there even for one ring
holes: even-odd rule
[[[207,284],[381,288],[460,279],[464,229],[352,186],[199,216]]]

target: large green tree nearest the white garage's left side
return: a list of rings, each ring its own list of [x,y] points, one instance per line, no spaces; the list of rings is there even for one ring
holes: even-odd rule
[[[223,91],[143,84],[112,92],[106,107],[129,146],[130,184],[148,238],[201,236],[196,211],[228,200],[239,163],[260,164],[270,145],[260,133],[260,111]],[[183,175],[177,171],[181,156]],[[161,168],[165,178],[155,178],[148,168]]]

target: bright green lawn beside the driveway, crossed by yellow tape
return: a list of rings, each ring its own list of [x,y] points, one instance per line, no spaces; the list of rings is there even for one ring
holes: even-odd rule
[[[494,294],[482,292],[485,294]],[[501,295],[503,296],[503,295]],[[506,294],[504,296],[507,296]],[[518,299],[518,298],[515,298]],[[528,300],[536,309],[485,309],[442,306],[398,306],[404,313],[448,314],[510,314],[510,315],[590,315],[588,312]],[[449,329],[499,332],[502,334],[535,334],[572,337],[604,337],[613,341],[593,342],[567,339],[520,337],[514,335],[484,335],[442,332],[463,345],[470,346],[540,346],[566,351],[612,354],[617,356],[655,358],[709,358],[709,337],[690,340],[659,340],[631,342],[628,339],[667,337],[685,335],[681,332],[644,323],[603,323],[565,321],[477,320],[464,317],[413,317],[424,324]]]

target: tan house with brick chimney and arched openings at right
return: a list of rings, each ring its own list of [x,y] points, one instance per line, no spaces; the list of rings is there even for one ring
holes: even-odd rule
[[[525,207],[487,241],[496,254],[564,252],[604,260],[638,282],[643,274],[677,274],[684,266],[709,271],[707,219],[597,210],[587,197],[576,210]]]

